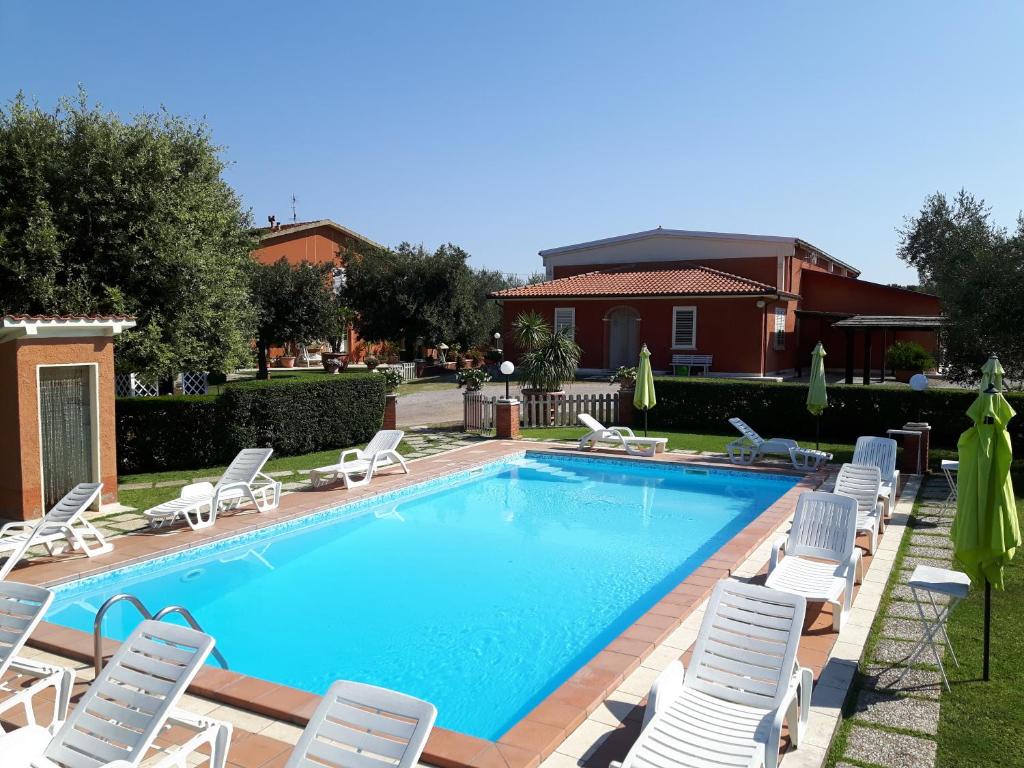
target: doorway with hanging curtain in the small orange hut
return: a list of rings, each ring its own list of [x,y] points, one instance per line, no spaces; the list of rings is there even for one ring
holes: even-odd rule
[[[93,481],[90,374],[88,366],[39,369],[45,509],[78,483]]]

